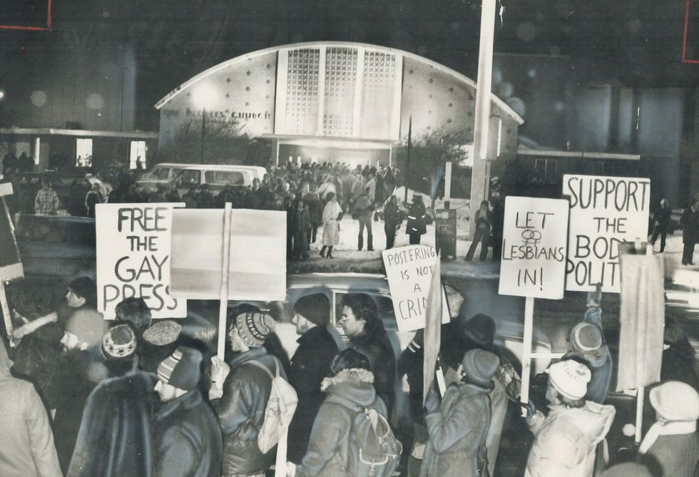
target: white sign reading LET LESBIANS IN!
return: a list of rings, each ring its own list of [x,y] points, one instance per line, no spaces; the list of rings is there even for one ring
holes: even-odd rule
[[[563,298],[568,210],[567,200],[505,199],[499,294]]]

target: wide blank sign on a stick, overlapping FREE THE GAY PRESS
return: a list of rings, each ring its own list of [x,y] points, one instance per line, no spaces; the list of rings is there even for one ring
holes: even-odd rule
[[[285,299],[286,223],[286,212],[276,210],[230,212],[228,299]],[[173,296],[220,299],[223,226],[223,209],[173,212]]]

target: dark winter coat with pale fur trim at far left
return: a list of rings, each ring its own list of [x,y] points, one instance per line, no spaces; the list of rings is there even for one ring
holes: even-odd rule
[[[52,316],[56,316],[52,314]],[[39,318],[39,320],[44,318]],[[57,319],[57,317],[56,317]],[[33,322],[24,325],[31,327]],[[28,379],[48,409],[56,409],[63,389],[63,373],[66,364],[62,357],[63,330],[55,319],[26,334],[17,345],[12,373]]]

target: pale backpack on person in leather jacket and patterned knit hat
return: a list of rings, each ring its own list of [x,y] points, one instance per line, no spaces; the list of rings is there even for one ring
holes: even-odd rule
[[[276,372],[274,375],[272,375],[270,370],[267,369],[267,366],[260,363],[260,361],[255,361],[253,359],[248,362],[264,370],[267,376],[270,376],[272,380],[270,399],[267,399],[267,404],[265,405],[265,420],[262,421],[259,434],[257,434],[257,446],[262,453],[267,453],[272,447],[277,445],[277,442],[279,442],[280,438],[289,427],[291,419],[296,411],[298,396],[291,384],[280,376],[280,364],[277,362],[276,358]]]

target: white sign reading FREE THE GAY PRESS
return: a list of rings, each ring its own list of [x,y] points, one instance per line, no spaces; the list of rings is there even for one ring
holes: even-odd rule
[[[187,302],[170,294],[170,229],[179,203],[98,204],[97,301],[105,319],[121,300],[141,297],[153,318],[183,318]]]

